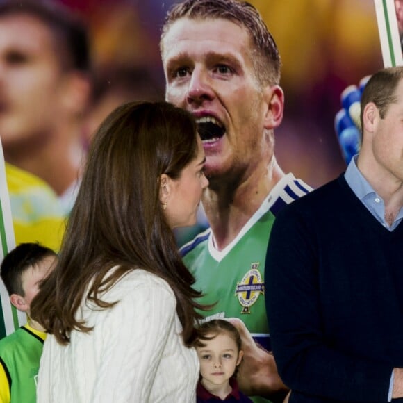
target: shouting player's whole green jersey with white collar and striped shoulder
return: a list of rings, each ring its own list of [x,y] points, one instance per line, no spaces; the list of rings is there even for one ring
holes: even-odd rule
[[[181,248],[183,261],[194,275],[193,286],[204,294],[198,302],[216,303],[202,314],[211,318],[240,318],[254,340],[271,350],[265,309],[265,257],[277,213],[311,187],[288,174],[277,183],[238,236],[222,251],[213,245],[211,229]],[[254,397],[254,402],[267,402]]]

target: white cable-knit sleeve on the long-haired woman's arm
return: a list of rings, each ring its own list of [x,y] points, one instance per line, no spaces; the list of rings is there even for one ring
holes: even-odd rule
[[[175,315],[172,290],[151,276],[110,309],[102,324],[106,348],[91,402],[149,402],[163,349],[174,334]]]

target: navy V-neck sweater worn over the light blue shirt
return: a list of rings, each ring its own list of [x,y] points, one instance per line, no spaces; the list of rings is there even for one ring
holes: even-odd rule
[[[388,231],[344,176],[279,213],[265,267],[290,402],[387,402],[403,368],[403,224]]]

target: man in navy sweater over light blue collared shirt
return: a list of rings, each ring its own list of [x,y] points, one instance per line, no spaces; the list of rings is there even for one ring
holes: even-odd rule
[[[361,126],[345,174],[284,208],[270,236],[265,297],[290,402],[403,397],[403,67],[368,81]]]

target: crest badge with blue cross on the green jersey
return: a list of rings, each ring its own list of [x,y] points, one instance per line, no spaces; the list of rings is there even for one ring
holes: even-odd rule
[[[250,270],[245,274],[240,283],[237,283],[235,296],[242,305],[240,313],[250,313],[251,306],[257,301],[259,295],[265,294],[261,272],[258,267],[260,263],[251,263]]]

